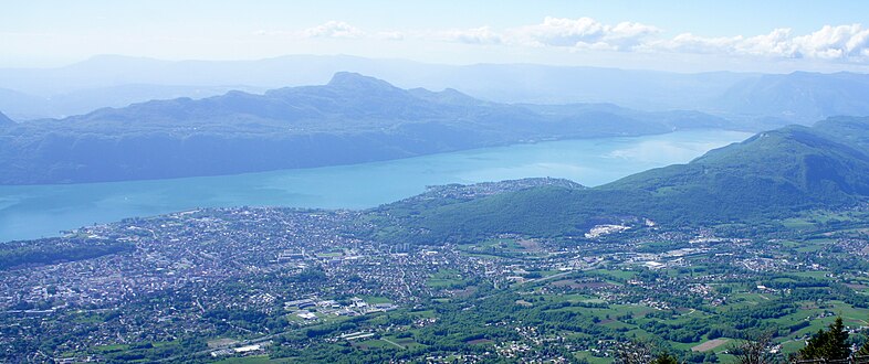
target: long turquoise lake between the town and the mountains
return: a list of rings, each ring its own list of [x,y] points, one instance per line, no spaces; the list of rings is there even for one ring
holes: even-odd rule
[[[678,131],[483,148],[384,162],[262,173],[109,183],[0,186],[0,242],[195,207],[366,208],[427,185],[530,176],[595,186],[651,168],[685,163],[746,132]]]

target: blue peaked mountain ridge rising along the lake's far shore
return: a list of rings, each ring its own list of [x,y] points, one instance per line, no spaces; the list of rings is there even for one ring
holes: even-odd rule
[[[20,122],[0,131],[0,183],[230,174],[727,126],[697,111],[507,105],[338,73],[323,86],[153,100]]]

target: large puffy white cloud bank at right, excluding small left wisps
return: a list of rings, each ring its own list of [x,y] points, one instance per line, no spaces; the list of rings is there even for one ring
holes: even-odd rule
[[[479,36],[485,29],[485,38]],[[489,28],[453,32],[454,40],[492,40],[503,44],[609,50],[620,52],[669,52],[694,54],[752,55],[784,58],[869,60],[869,29],[861,24],[825,25],[809,34],[775,29],[768,34],[708,38],[682,33],[670,39],[662,30],[637,22],[600,23],[591,18],[548,17],[540,24],[506,29]],[[477,34],[477,36],[474,36]],[[483,42],[480,42],[483,43]],[[490,42],[491,43],[491,42]]]

